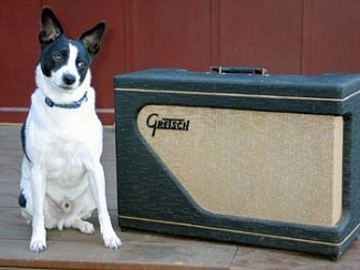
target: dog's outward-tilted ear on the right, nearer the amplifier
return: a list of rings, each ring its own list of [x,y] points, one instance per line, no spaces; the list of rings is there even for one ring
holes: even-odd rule
[[[80,35],[79,40],[84,43],[91,55],[95,55],[99,52],[105,27],[106,23],[104,21],[99,22],[94,28]]]

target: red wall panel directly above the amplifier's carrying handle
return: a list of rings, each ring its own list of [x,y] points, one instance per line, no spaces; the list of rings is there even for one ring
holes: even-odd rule
[[[301,72],[301,0],[217,1],[214,42],[219,55],[213,64]]]

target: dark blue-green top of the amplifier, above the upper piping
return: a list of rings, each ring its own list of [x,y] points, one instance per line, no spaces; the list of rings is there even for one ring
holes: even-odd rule
[[[114,76],[115,89],[307,96],[343,100],[360,90],[360,74],[238,74],[150,69]]]

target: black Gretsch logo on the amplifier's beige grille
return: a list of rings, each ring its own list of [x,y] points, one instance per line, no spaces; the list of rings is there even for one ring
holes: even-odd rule
[[[189,120],[183,118],[160,118],[158,114],[151,114],[147,116],[146,126],[153,129],[152,136],[155,136],[156,129],[168,131],[188,131],[191,124]]]

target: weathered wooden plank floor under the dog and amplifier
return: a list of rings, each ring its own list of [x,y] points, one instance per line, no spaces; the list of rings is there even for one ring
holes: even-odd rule
[[[123,247],[107,250],[96,233],[48,231],[48,249],[29,251],[30,226],[20,216],[18,193],[22,158],[20,126],[0,125],[0,268],[60,269],[360,269],[360,240],[339,261],[309,255],[155,235],[120,231],[116,219],[114,132],[104,133],[103,165],[113,225]]]

